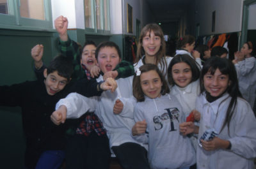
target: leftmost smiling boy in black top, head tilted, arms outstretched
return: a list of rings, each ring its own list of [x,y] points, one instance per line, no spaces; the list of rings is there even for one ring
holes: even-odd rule
[[[25,167],[28,169],[58,168],[63,162],[68,123],[56,126],[50,116],[56,103],[70,91],[87,88],[84,86],[88,84],[87,79],[86,83],[81,81],[79,85],[68,85],[72,71],[70,59],[60,55],[44,70],[44,80],[0,86],[0,105],[22,109],[26,136]],[[90,96],[91,91],[95,95],[101,94],[98,89],[107,89],[106,84],[108,82],[87,88],[83,94]]]

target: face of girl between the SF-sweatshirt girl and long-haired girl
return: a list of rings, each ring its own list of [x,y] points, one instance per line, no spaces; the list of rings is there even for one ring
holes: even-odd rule
[[[192,80],[191,68],[186,62],[178,62],[172,66],[172,78],[179,87],[186,87]]]

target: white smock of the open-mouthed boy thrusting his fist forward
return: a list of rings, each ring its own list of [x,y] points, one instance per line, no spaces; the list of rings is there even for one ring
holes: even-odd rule
[[[101,96],[86,98],[80,94],[71,93],[67,98],[61,99],[57,103],[56,109],[60,105],[65,105],[67,107],[67,118],[78,118],[85,112],[95,112],[100,121],[102,121],[104,128],[107,129],[110,147],[118,146],[125,142],[138,143],[131,136],[131,129],[134,125],[132,116],[134,108],[127,108],[127,110],[132,110],[129,113],[129,117],[113,113],[116,99],[132,97],[132,78],[133,76],[119,78],[116,80],[118,84],[116,91],[113,93],[111,91],[104,91]],[[102,79],[102,76],[100,76],[97,78],[97,81],[99,82]]]

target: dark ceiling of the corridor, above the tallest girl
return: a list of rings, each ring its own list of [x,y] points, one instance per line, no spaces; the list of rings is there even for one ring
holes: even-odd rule
[[[156,22],[177,22],[194,0],[146,0]]]

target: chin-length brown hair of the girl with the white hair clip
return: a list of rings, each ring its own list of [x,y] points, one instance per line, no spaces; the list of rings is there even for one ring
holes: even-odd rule
[[[140,66],[141,74],[148,72],[150,70],[155,70],[157,72],[157,74],[159,75],[161,82],[163,83],[162,88],[161,88],[161,94],[164,95],[166,93],[169,93],[170,89],[168,87],[168,84],[167,84],[165,78],[163,77],[161,71],[155,64],[144,64],[143,66]],[[132,93],[133,93],[134,98],[137,99],[137,101],[145,101],[145,96],[144,96],[144,93],[142,91],[141,84],[140,84],[140,75],[139,76],[134,75],[134,77],[133,77]]]

